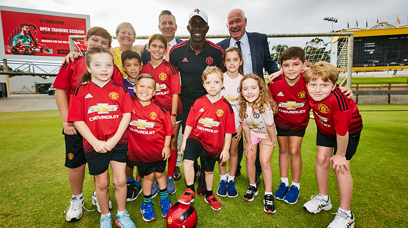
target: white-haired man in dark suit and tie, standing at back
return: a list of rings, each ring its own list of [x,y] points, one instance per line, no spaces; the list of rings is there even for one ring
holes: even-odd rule
[[[238,47],[242,51],[244,59],[244,74],[254,73],[264,78],[263,69],[272,74],[279,71],[277,64],[271,59],[269,52],[268,39],[265,34],[245,32],[246,17],[243,10],[234,9],[228,12],[226,16],[226,26],[230,33],[230,38],[217,43],[222,49],[228,47]],[[236,176],[241,175],[241,160],[243,156],[242,138],[238,147],[238,167]],[[259,147],[256,161],[256,182],[260,184],[261,164],[259,163]]]

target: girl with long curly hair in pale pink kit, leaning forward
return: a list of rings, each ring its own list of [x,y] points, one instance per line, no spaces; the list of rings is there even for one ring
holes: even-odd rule
[[[272,195],[271,156],[276,145],[273,115],[277,113],[277,105],[262,78],[255,74],[247,74],[242,78],[238,109],[245,134],[246,170],[249,180],[244,200],[253,201],[254,196],[258,194],[255,183],[255,160],[259,144],[259,160],[265,184],[264,211],[273,214],[276,210]]]

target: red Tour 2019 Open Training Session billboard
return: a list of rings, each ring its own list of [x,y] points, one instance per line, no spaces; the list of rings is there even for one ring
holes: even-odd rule
[[[85,36],[90,26],[89,15],[12,7],[0,7],[0,14],[0,57],[5,59],[63,57],[69,53],[68,36]]]

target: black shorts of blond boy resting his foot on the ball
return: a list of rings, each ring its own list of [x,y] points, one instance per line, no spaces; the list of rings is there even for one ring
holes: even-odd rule
[[[202,153],[202,146],[193,143],[192,141],[187,141],[186,149],[184,150],[183,160],[197,161],[200,158],[201,168],[207,172],[213,172],[215,161],[206,157]]]

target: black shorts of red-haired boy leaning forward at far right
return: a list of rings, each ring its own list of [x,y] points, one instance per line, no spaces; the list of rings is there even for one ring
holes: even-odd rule
[[[346,149],[346,160],[351,160],[353,155],[355,154],[355,151],[357,150],[357,146],[359,146],[359,141],[360,141],[360,133],[356,132],[354,134],[348,135],[348,144],[347,144],[347,149]],[[317,135],[316,135],[316,145],[317,146],[322,146],[322,147],[331,147],[334,148],[333,155],[336,154],[337,152],[337,138],[336,136],[334,137],[329,137],[328,135],[325,135],[317,129]]]

